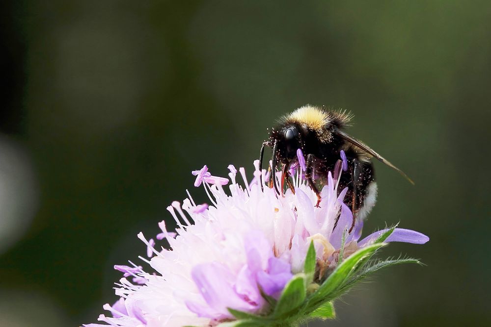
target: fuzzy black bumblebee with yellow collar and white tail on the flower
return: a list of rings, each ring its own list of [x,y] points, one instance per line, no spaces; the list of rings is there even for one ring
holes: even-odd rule
[[[340,164],[341,151],[344,151],[348,162],[347,171],[340,175],[339,190],[348,188],[345,203],[351,207],[355,219],[364,219],[375,204],[377,183],[372,157],[392,167],[411,183],[412,180],[380,154],[348,135],[344,130],[350,126],[352,115],[346,111],[330,111],[324,107],[305,105],[280,118],[278,126],[273,128],[269,140],[263,143],[259,156],[262,161],[265,147],[273,149],[272,169],[282,165],[281,192],[278,185],[270,178],[270,187],[283,194],[284,182],[295,192],[290,179],[289,169],[299,163],[297,150],[305,155],[305,179],[310,188],[317,194],[317,206],[321,201],[319,186],[326,181],[327,172],[334,172]],[[261,181],[261,185],[262,181]],[[353,228],[352,226],[352,228]],[[350,229],[351,231],[351,229]]]

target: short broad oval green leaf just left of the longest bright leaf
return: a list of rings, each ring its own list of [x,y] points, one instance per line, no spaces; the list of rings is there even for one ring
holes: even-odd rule
[[[274,316],[280,316],[299,307],[305,301],[306,290],[303,274],[295,275],[286,284],[274,308]]]

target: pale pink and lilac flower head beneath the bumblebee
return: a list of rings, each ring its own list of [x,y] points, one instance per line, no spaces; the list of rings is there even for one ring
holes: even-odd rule
[[[310,297],[313,304],[304,306],[312,312],[319,305],[313,296],[324,294],[321,289],[343,259],[372,248],[374,252],[385,236],[386,242],[429,240],[416,231],[392,228],[358,241],[363,222],[351,228],[353,214],[343,202],[347,189],[338,190],[339,176],[347,168],[344,153],[334,174],[328,173],[319,207],[316,194],[302,178],[305,160],[300,149],[297,155],[292,168],[295,192],[288,189],[282,196],[267,187],[268,174],[259,171],[258,160],[250,183],[245,169],[237,171],[233,165],[228,167],[229,178],[211,175],[207,166],[193,171],[194,186],[204,186],[210,205],[196,204],[188,192],[182,205],[174,201],[167,207],[178,226],[170,232],[164,221],[159,223],[162,232],[156,239],[166,240],[167,249],[156,248],[153,239],[138,234],[150,257],[140,259],[154,272],[131,261],[131,266],[114,266],[124,273],[116,284],[121,298],[112,306],[104,305],[111,317],[101,315],[99,321],[119,327],[180,327],[215,326],[236,320],[237,312],[268,317],[279,310],[274,303],[282,303],[304,282],[319,288]],[[237,182],[238,172],[244,186]],[[280,184],[280,178],[278,173],[273,181]],[[316,268],[311,276],[307,266],[312,263]],[[132,282],[127,277],[133,277]],[[297,283],[298,278],[304,282]]]

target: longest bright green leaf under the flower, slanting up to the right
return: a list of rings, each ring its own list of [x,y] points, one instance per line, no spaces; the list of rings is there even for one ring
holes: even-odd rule
[[[309,304],[318,301],[324,302],[332,300],[329,295],[340,288],[345,280],[351,277],[358,264],[363,261],[363,259],[365,259],[367,256],[370,256],[375,251],[382,248],[384,245],[384,243],[377,243],[366,246],[346,258],[346,260],[338,265],[336,269],[332,272],[332,274],[327,277],[327,279],[322,283],[317,292],[312,294],[309,299]]]

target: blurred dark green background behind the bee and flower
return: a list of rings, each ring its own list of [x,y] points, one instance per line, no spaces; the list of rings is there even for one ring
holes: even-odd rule
[[[346,108],[375,163],[366,225],[427,267],[380,273],[325,326],[491,326],[490,1],[2,2],[0,326],[79,326],[113,302],[114,264],[193,189],[249,174],[267,127]],[[226,176],[226,175],[225,175]],[[311,326],[324,326],[311,324]]]

